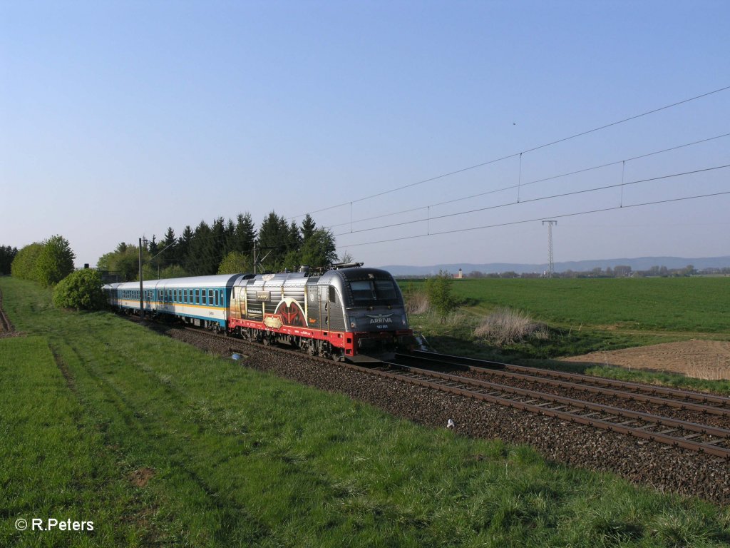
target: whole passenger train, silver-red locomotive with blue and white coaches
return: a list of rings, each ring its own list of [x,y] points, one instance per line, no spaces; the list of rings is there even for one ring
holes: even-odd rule
[[[226,274],[112,283],[112,307],[177,317],[185,323],[309,354],[357,361],[412,346],[403,295],[385,270],[361,263],[323,273]]]

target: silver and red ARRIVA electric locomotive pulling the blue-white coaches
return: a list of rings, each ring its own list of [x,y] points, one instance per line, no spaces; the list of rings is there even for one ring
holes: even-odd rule
[[[228,328],[262,343],[289,343],[312,355],[358,359],[412,344],[403,296],[385,270],[361,263],[324,273],[242,277],[231,292]]]

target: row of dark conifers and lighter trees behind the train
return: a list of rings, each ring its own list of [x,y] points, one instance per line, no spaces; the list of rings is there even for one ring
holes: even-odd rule
[[[195,229],[188,225],[180,236],[169,227],[162,240],[153,235],[142,243],[145,279],[253,273],[254,266],[257,272],[283,272],[333,262],[337,253],[330,230],[317,227],[309,215],[299,225],[274,211],[258,230],[250,213],[239,213],[235,221],[218,217],[211,224],[201,221]],[[139,245],[120,243],[102,255],[96,266],[117,281],[139,279]]]

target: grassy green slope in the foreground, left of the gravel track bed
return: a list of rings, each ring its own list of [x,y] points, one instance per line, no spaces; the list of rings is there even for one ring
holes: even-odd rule
[[[726,546],[730,509],[395,419],[0,278],[0,546]],[[33,531],[18,519],[93,522]]]

